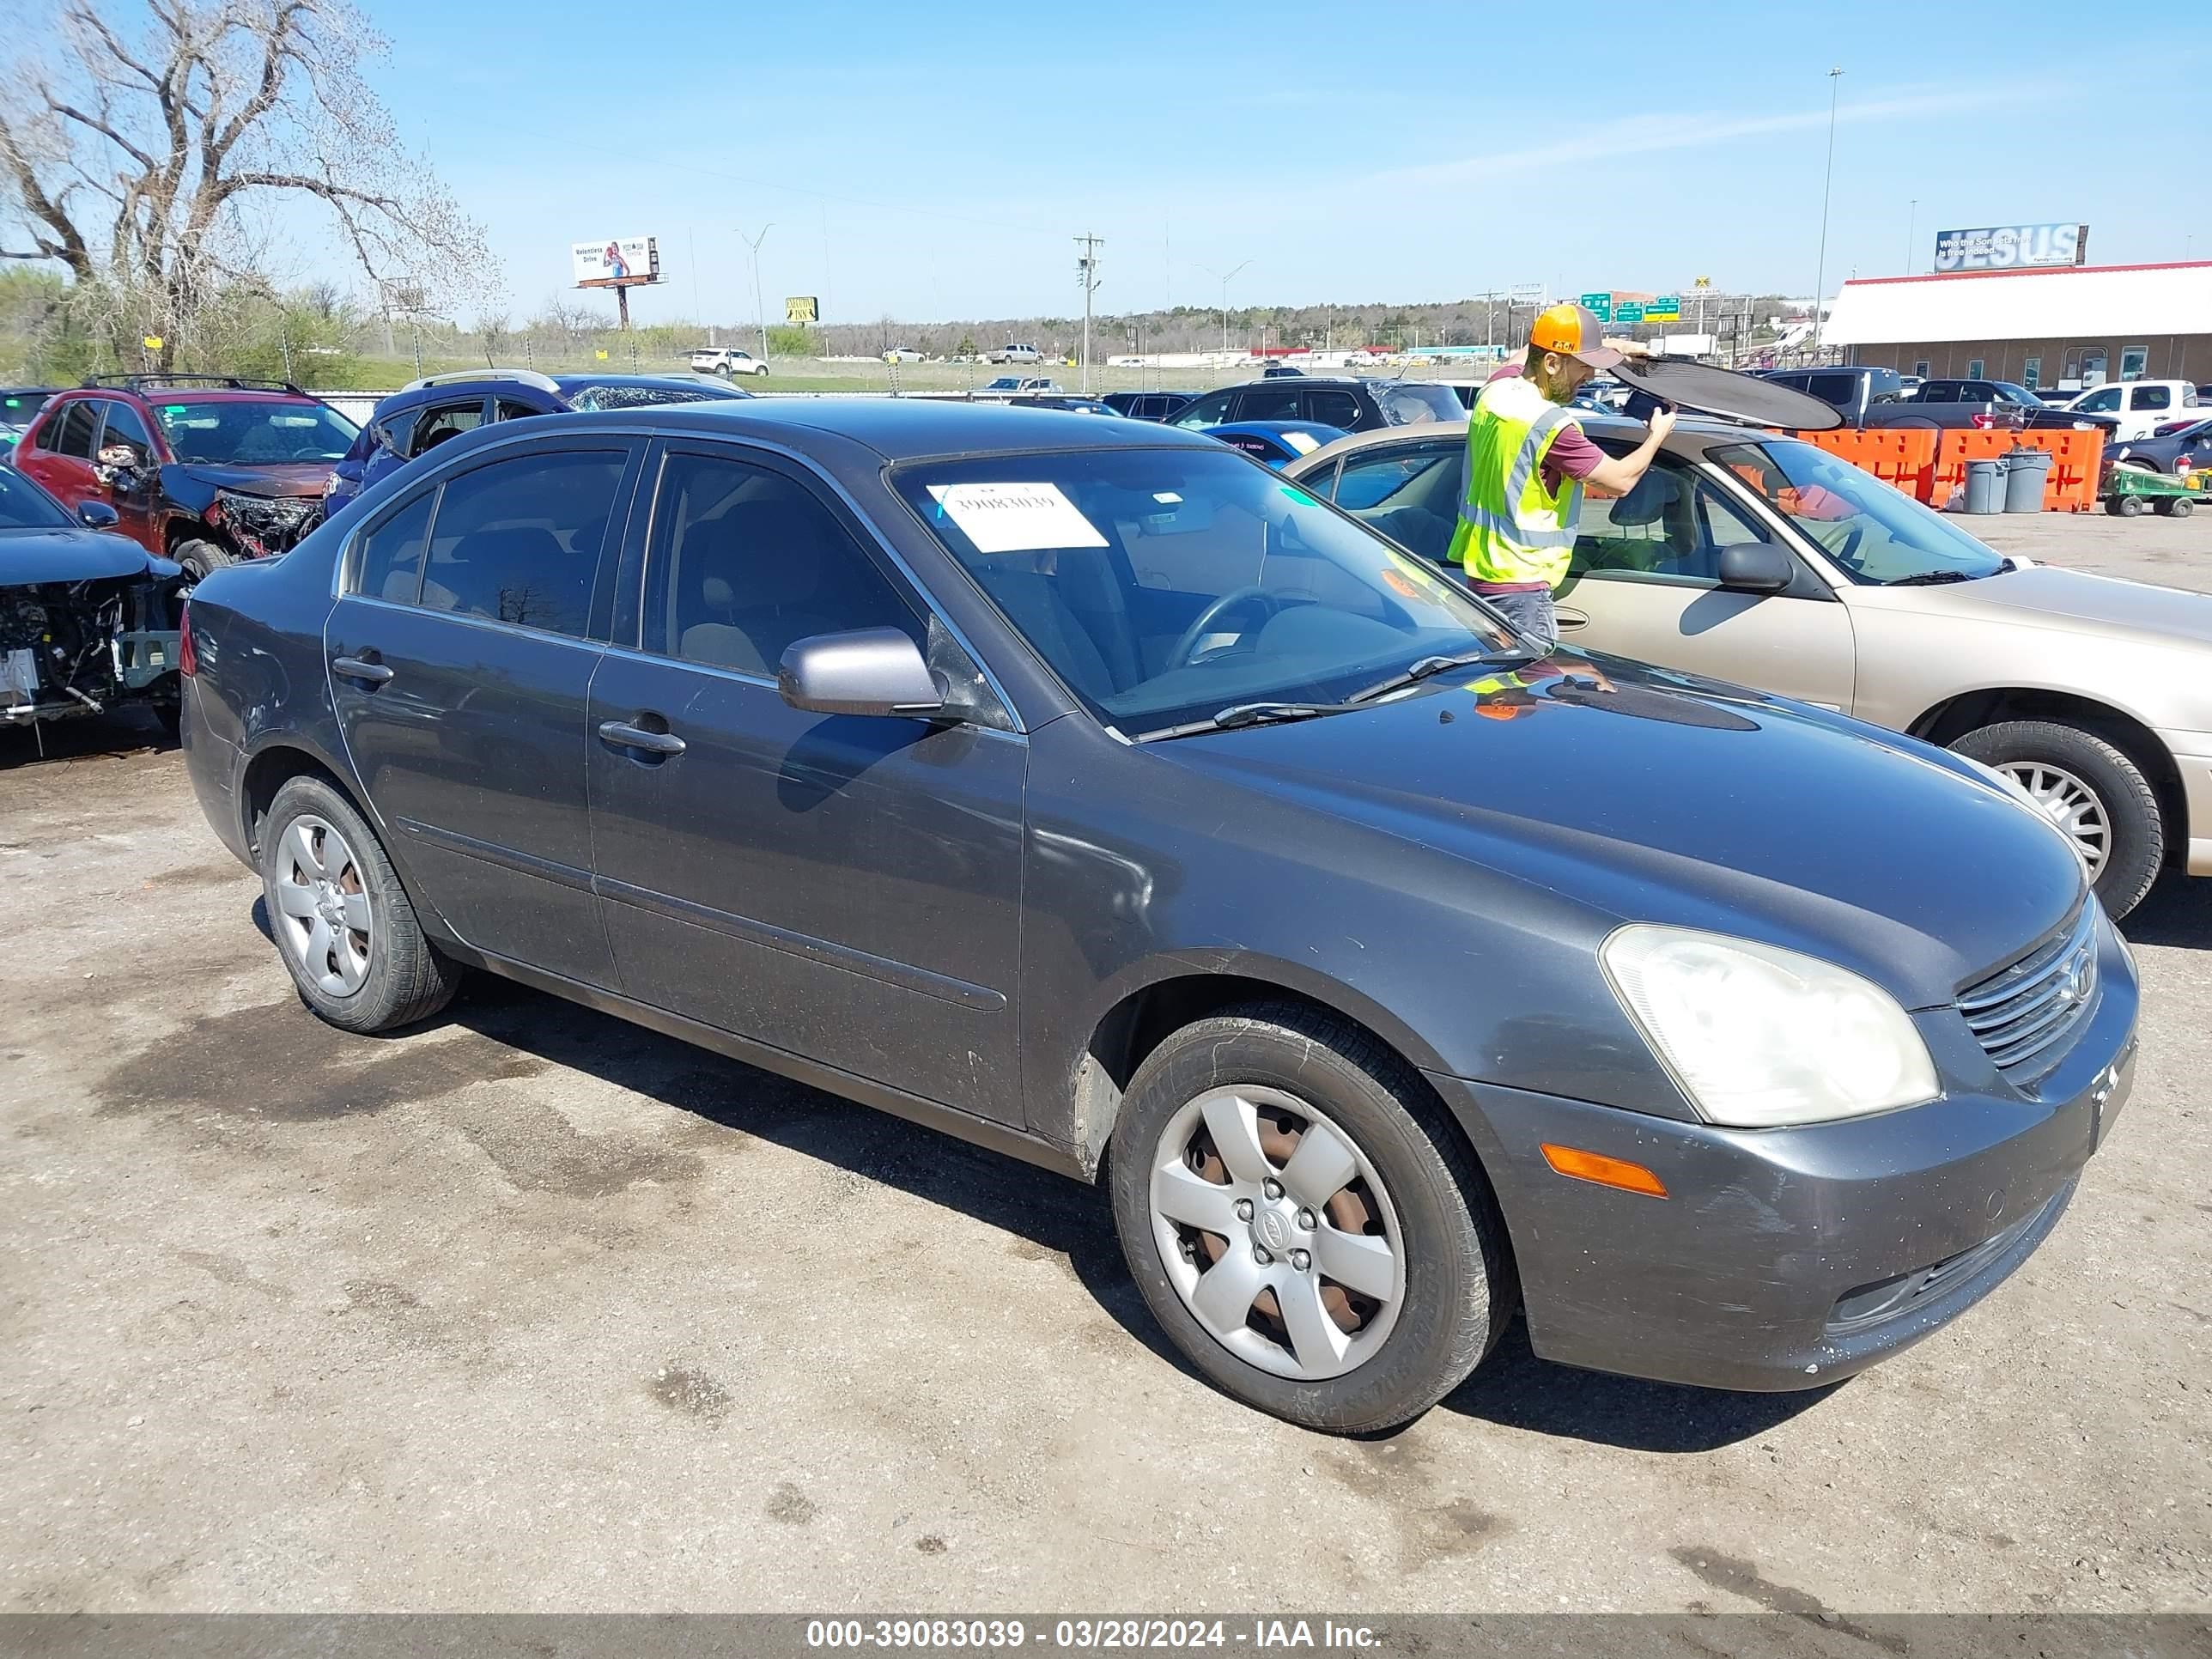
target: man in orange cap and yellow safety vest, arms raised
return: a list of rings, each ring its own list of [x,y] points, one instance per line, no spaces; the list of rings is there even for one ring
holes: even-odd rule
[[[1584,487],[1626,493],[1674,429],[1674,411],[1661,409],[1650,436],[1619,458],[1584,436],[1568,398],[1628,354],[1650,352],[1604,338],[1582,305],[1553,305],[1528,330],[1526,361],[1482,387],[1467,422],[1467,495],[1444,557],[1544,650],[1559,644],[1551,591],[1566,580]]]

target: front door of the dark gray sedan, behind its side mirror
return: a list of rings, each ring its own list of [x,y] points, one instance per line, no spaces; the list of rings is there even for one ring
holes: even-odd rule
[[[1022,783],[1011,730],[827,717],[776,695],[794,639],[960,648],[799,467],[670,442],[639,511],[630,648],[591,697],[591,816],[622,989],[1000,1121],[1015,1048]],[[641,564],[635,580],[628,571]]]

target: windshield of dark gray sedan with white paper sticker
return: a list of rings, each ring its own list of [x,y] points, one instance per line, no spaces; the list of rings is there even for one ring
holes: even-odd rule
[[[1126,737],[1520,648],[1469,593],[1228,449],[922,462],[894,482]]]

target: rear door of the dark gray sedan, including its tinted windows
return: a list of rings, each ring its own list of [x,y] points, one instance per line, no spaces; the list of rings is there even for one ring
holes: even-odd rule
[[[429,902],[480,951],[606,989],[584,714],[641,453],[471,456],[365,522],[323,628],[354,774]]]

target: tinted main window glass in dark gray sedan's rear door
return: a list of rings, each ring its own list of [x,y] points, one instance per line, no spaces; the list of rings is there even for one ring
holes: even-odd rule
[[[449,478],[422,608],[582,639],[626,456],[555,449]]]

